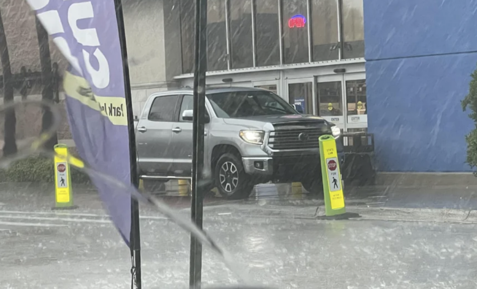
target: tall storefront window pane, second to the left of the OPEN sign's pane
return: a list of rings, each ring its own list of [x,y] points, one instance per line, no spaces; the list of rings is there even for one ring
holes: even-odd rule
[[[232,68],[253,67],[252,1],[232,0],[229,3]]]

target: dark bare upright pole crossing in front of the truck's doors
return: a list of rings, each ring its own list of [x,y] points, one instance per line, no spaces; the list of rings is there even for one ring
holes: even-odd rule
[[[207,0],[195,0],[195,53],[194,53],[194,115],[192,143],[192,202],[191,218],[202,228],[204,198],[204,125],[205,125],[205,72],[207,71]],[[190,237],[189,286],[200,289],[202,270],[202,244]]]

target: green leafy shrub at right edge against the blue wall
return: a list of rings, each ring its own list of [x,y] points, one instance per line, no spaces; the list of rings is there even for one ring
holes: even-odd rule
[[[476,124],[468,135],[466,135],[467,142],[467,159],[466,162],[471,168],[477,167],[477,69],[471,74],[472,80],[469,83],[469,94],[462,100],[462,109],[466,111],[467,108],[471,110],[469,118]],[[476,175],[476,171],[474,171]]]

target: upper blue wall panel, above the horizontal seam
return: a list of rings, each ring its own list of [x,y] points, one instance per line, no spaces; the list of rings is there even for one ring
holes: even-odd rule
[[[365,58],[477,51],[477,0],[363,0]]]

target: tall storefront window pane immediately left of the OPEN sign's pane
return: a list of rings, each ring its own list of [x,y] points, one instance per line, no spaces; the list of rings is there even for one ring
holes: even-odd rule
[[[277,0],[255,0],[257,66],[280,64],[280,32]]]

